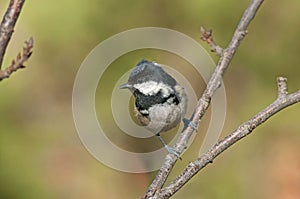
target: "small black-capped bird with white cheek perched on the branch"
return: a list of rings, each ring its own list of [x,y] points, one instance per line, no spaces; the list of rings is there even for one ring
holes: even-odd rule
[[[179,156],[160,133],[175,128],[184,118],[188,102],[184,88],[159,64],[143,59],[120,89],[129,89],[135,97],[134,113],[141,125],[158,136],[169,153]]]

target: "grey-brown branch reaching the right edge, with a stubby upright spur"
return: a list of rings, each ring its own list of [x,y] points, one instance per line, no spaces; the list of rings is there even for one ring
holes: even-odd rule
[[[235,144],[243,137],[249,135],[256,127],[264,123],[267,119],[275,115],[280,110],[292,104],[300,102],[300,90],[292,94],[288,94],[287,92],[285,92],[287,91],[286,78],[277,78],[277,85],[278,97],[272,104],[270,104],[264,110],[260,111],[248,121],[244,122],[224,139],[213,145],[196,161],[188,164],[185,170],[175,180],[173,180],[165,188],[156,192],[156,196],[153,198],[169,198],[170,196],[175,194],[185,183],[187,183],[195,174],[197,174],[209,163],[212,163],[218,155],[220,155],[230,146]]]

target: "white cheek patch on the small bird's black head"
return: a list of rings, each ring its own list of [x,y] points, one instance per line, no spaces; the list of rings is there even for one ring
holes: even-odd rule
[[[172,92],[170,86],[161,82],[157,83],[155,81],[148,81],[141,84],[135,84],[133,87],[138,89],[144,95],[156,95],[161,90],[163,97],[168,97]]]

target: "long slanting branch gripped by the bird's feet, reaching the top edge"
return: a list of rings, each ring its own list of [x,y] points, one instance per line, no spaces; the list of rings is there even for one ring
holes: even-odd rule
[[[197,107],[190,118],[190,120],[198,124],[201,118],[204,116],[208,106],[210,104],[211,98],[214,95],[215,91],[221,86],[222,76],[225,70],[228,68],[230,61],[232,60],[233,55],[235,54],[237,48],[240,45],[240,42],[243,40],[247,27],[254,18],[258,8],[263,3],[263,0],[252,0],[249,7],[245,11],[242,19],[240,20],[231,42],[228,47],[224,50],[222,57],[220,58],[218,65],[210,78],[205,91],[203,92],[200,100],[198,101]],[[193,134],[194,129],[192,127],[187,127],[179,135],[174,149],[180,154],[187,148],[188,142]],[[174,164],[177,161],[177,156],[174,154],[167,154],[165,161],[162,167],[159,169],[154,181],[149,186],[145,196],[143,198],[151,198],[155,192],[160,190],[164,185],[169,173],[171,172]]]

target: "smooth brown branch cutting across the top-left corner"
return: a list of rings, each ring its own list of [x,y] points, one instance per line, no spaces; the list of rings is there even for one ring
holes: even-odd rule
[[[4,54],[25,0],[11,0],[0,25],[0,69]]]

